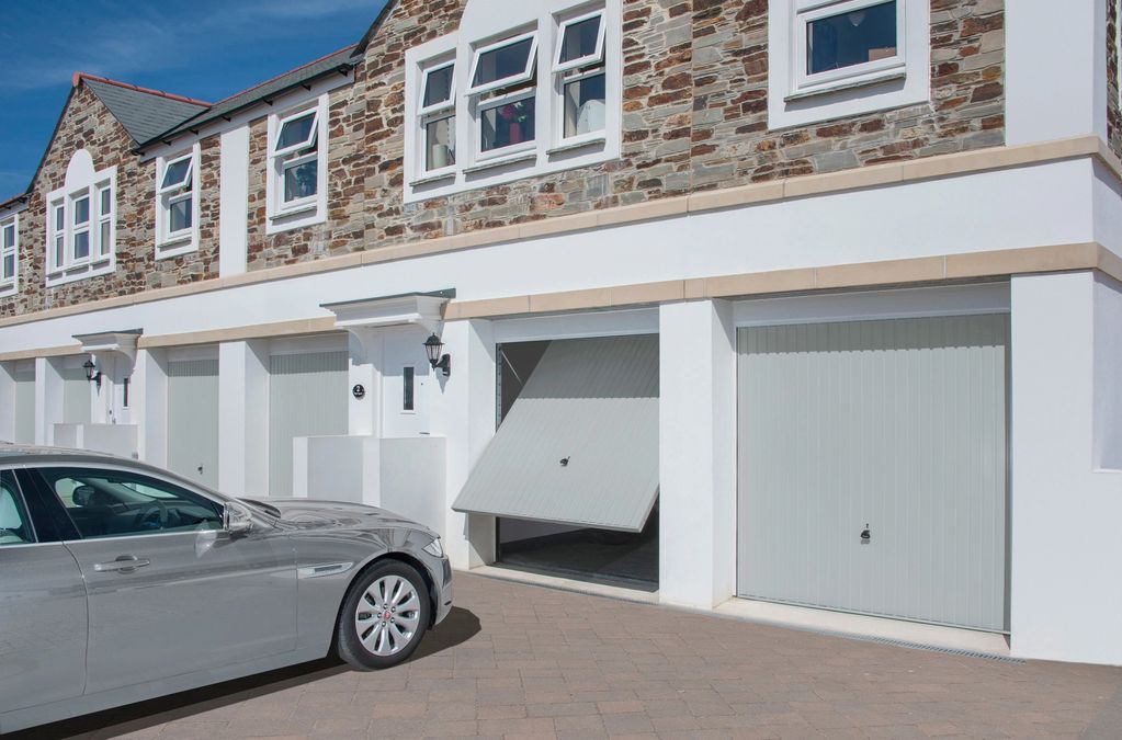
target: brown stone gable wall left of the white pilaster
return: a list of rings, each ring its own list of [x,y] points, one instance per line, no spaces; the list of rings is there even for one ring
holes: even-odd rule
[[[132,139],[89,87],[80,84],[73,90],[33,184],[27,210],[19,218],[20,290],[0,299],[0,316],[218,277],[218,138],[202,142],[200,249],[158,261],[155,258],[156,165],[151,159],[140,161],[132,147]],[[93,158],[94,169],[117,166],[117,269],[108,275],[47,288],[46,197],[63,187],[66,166],[82,148]]]

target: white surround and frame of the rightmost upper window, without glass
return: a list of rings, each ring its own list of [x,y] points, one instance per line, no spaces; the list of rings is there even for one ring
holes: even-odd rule
[[[767,128],[783,129],[925,103],[931,96],[930,2],[896,0],[898,58],[828,80],[800,74],[807,21],[885,0],[769,0]]]

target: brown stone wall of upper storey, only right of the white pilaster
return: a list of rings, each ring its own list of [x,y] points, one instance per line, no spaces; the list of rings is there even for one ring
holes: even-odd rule
[[[767,2],[624,0],[618,160],[403,204],[406,48],[452,33],[463,0],[402,0],[332,102],[327,224],[250,239],[250,269],[1004,144],[1002,0],[931,1],[931,101],[767,130]],[[264,120],[254,131],[264,221]],[[334,137],[341,136],[337,147]],[[260,175],[258,175],[260,170]],[[360,224],[355,223],[355,219]]]

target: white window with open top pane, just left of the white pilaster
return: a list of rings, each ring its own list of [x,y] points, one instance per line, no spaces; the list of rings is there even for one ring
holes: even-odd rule
[[[156,158],[156,259],[199,247],[199,151]]]

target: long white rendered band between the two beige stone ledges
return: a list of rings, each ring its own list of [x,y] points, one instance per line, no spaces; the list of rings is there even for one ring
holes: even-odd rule
[[[1087,242],[1093,181],[1084,158],[558,234],[7,326],[0,351],[70,344],[72,334],[114,326],[142,325],[153,335],[325,317],[320,304],[328,298],[450,281],[458,299],[473,300]]]

